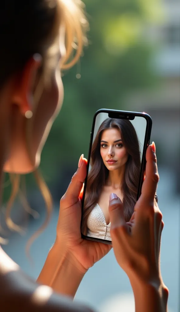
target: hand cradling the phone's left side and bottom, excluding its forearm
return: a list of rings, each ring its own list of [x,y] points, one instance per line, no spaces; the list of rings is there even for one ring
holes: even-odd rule
[[[95,262],[105,256],[111,245],[88,241],[81,237],[81,199],[87,174],[87,159],[81,155],[78,170],[60,200],[56,245],[60,252],[68,253],[73,264],[85,273]]]

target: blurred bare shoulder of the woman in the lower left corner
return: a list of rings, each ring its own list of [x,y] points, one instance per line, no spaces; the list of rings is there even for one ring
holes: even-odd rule
[[[49,286],[36,283],[1,251],[0,285],[1,312],[92,312],[69,297],[54,293]]]

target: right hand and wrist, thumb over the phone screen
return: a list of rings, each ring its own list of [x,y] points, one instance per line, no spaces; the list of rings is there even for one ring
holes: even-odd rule
[[[129,222],[125,221],[123,205],[119,197],[116,194],[110,195],[112,246],[118,264],[130,279],[134,294],[137,289],[141,292],[141,299],[140,294],[139,299],[137,299],[138,293],[135,295],[137,310],[156,311],[156,304],[158,308],[158,303],[154,303],[155,306],[153,306],[154,296],[148,297],[148,306],[146,306],[147,302],[145,305],[140,303],[143,301],[142,291],[146,289],[146,295],[150,295],[152,289],[149,291],[149,287],[151,286],[155,287],[157,298],[163,297],[163,302],[160,303],[163,305],[163,310],[159,308],[157,311],[166,311],[168,289],[163,284],[160,272],[160,242],[163,221],[162,213],[155,201],[159,174],[154,142],[147,149],[146,161],[142,193],[135,204],[134,213]],[[161,295],[158,293],[159,291]],[[146,295],[144,294],[144,298]]]

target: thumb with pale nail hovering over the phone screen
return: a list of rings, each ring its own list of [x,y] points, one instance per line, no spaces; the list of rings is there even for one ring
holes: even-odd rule
[[[124,207],[121,199],[116,194],[111,193],[109,197],[109,215],[111,221],[111,229],[126,225],[124,217]]]

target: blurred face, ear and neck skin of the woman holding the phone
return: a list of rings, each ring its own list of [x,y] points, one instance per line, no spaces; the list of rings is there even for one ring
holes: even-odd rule
[[[2,91],[7,103],[7,105],[1,105],[1,116],[2,118],[6,116],[7,121],[3,130],[8,134],[7,144],[1,151],[1,155],[4,154],[5,157],[3,163],[5,172],[29,173],[39,166],[41,150],[63,102],[64,89],[59,61],[60,56],[64,56],[64,51],[65,46],[61,39],[57,42],[54,68],[50,72],[50,87],[43,89],[31,120],[26,120],[24,115],[27,110],[33,111],[34,108],[33,90],[39,82],[38,69],[41,66],[41,57],[39,55],[32,57],[21,75],[12,76],[4,92]],[[29,142],[31,158],[26,147],[25,135],[29,122],[32,123],[32,138]]]

